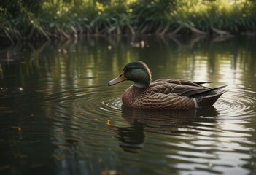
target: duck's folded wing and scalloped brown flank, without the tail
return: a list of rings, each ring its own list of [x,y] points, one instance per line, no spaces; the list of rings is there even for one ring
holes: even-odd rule
[[[200,86],[179,85],[164,81],[156,81],[136,98],[133,106],[147,109],[192,109],[193,98],[187,95],[201,93],[205,88]]]

